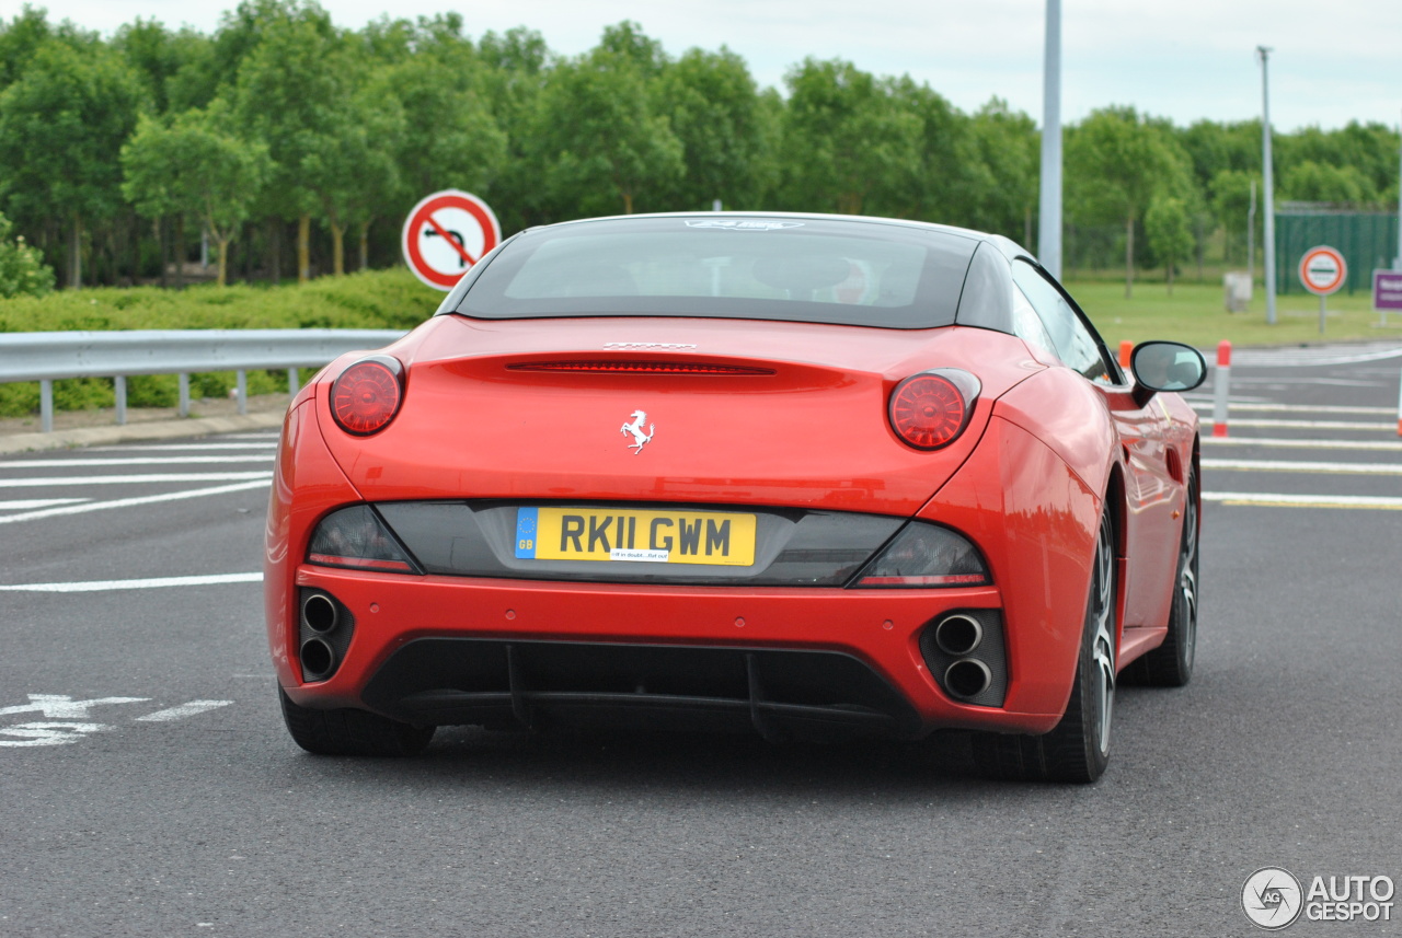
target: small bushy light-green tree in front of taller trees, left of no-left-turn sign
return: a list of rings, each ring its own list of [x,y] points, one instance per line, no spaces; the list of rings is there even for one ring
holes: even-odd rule
[[[122,192],[147,217],[198,217],[219,252],[220,287],[229,283],[229,245],[269,168],[268,148],[227,133],[229,123],[227,105],[216,101],[170,126],[143,118],[122,147]]]

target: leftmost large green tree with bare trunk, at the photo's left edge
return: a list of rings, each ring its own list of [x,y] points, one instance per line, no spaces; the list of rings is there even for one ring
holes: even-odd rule
[[[146,108],[140,81],[105,48],[50,39],[0,94],[0,178],[27,218],[69,225],[69,286],[83,284],[84,224],[121,207],[118,153]],[[42,154],[42,155],[41,155]]]

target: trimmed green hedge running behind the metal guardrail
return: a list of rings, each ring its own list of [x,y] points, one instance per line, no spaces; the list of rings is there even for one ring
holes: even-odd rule
[[[42,298],[0,300],[0,332],[107,329],[409,329],[437,308],[443,294],[421,284],[404,267],[322,277],[303,286],[188,290],[160,287],[62,290]],[[191,377],[191,396],[222,398],[233,372]],[[250,372],[248,393],[287,388],[285,371]],[[126,382],[133,407],[171,407],[179,398],[175,375],[140,375]],[[53,382],[59,410],[111,407],[111,378]],[[0,416],[39,410],[39,385],[0,384]]]

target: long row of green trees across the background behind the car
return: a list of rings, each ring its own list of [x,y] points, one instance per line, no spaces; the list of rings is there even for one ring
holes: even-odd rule
[[[997,98],[966,113],[819,59],[761,88],[729,49],[673,56],[628,21],[578,56],[463,27],[343,29],[311,0],[243,0],[213,35],[136,20],[104,39],[25,6],[0,22],[0,273],[24,256],[17,283],[42,263],[69,287],[181,286],[202,238],[219,283],[388,266],[409,207],[444,188],[482,196],[506,234],[719,200],[1036,246],[1037,127]],[[1277,199],[1395,206],[1398,144],[1377,123],[1276,134]],[[1068,267],[1123,263],[1129,288],[1148,265],[1171,283],[1195,255],[1245,263],[1259,122],[1110,106],[1068,126],[1064,153]]]

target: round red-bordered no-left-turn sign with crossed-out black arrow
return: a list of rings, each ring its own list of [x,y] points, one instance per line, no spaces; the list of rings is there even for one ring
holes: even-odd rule
[[[471,192],[444,189],[428,196],[404,221],[404,262],[437,290],[451,290],[468,267],[502,239],[496,216]]]

